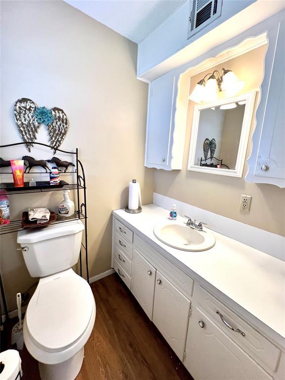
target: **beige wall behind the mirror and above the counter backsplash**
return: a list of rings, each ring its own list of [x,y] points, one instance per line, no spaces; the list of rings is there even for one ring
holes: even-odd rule
[[[245,81],[243,92],[248,92],[259,87],[261,84],[265,51],[266,46],[262,46],[228,62],[219,64],[214,68],[218,70],[221,70],[222,67],[232,69],[240,79]],[[191,78],[190,91],[192,91],[195,84],[207,72]],[[178,108],[183,107],[183,102],[185,103],[185,98],[188,94],[187,75],[181,79],[180,90],[182,93],[184,91],[184,99],[181,99],[181,95],[178,95]],[[255,108],[258,104],[258,99],[259,95],[257,95]],[[155,191],[263,230],[285,236],[285,190],[273,185],[258,185],[245,182],[246,162],[243,178],[231,178],[187,170],[193,106],[194,103],[189,102],[183,168],[181,171],[175,170],[171,172],[156,170]],[[251,134],[253,127],[254,120]],[[250,149],[251,138],[249,138],[246,158],[250,154]],[[249,213],[239,210],[241,194],[252,195]]]

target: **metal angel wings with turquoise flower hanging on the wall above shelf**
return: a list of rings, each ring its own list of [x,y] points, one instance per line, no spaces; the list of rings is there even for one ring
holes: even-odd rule
[[[68,130],[68,119],[65,112],[57,107],[46,109],[38,107],[37,104],[26,97],[22,97],[15,102],[14,117],[23,142],[31,142],[37,139],[41,123],[46,125],[49,143],[53,147],[53,152],[62,144]],[[26,143],[26,147],[31,151],[33,144]]]

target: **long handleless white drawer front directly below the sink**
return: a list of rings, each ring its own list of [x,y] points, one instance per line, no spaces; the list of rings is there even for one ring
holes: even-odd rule
[[[134,248],[141,253],[156,269],[158,269],[173,285],[186,296],[192,296],[194,280],[170,263],[161,253],[146,243],[142,238],[134,235]]]

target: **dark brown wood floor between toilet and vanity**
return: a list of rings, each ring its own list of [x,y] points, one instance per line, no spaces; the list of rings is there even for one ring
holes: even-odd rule
[[[193,380],[116,274],[91,284],[96,319],[76,380]],[[40,380],[21,352],[23,380]]]

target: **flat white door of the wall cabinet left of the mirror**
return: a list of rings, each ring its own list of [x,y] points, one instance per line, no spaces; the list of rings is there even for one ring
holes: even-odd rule
[[[168,165],[169,141],[175,77],[167,76],[152,82],[147,129],[147,159],[149,164]]]

